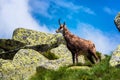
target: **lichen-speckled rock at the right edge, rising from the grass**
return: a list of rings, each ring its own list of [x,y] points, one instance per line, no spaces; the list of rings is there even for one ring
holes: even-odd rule
[[[120,66],[120,45],[118,48],[112,53],[112,57],[109,61],[110,66],[118,67]]]

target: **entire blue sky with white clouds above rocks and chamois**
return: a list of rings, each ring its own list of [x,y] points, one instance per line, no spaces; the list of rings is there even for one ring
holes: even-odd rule
[[[114,18],[119,0],[0,0],[0,38],[11,38],[18,27],[55,33],[58,19],[81,38],[110,54],[120,44]]]

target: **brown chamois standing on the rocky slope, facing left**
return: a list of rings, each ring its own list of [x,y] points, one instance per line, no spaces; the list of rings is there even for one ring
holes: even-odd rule
[[[76,59],[76,63],[78,63],[78,55],[81,53],[86,54],[87,58],[90,60],[91,63],[93,64],[97,63],[99,61],[99,58],[96,55],[95,45],[89,40],[85,40],[78,36],[73,35],[67,29],[65,22],[61,24],[60,19],[58,22],[60,27],[58,30],[56,30],[56,33],[62,33],[66,41],[67,48],[72,53],[73,64],[75,64],[75,59]],[[96,62],[94,62],[92,56],[95,58]]]

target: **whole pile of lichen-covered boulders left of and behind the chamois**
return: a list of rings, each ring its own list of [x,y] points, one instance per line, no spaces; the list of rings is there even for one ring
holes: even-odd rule
[[[86,62],[82,55],[78,60]],[[13,39],[0,39],[2,80],[28,80],[38,68],[58,70],[71,64],[72,56],[61,34],[18,28]]]

